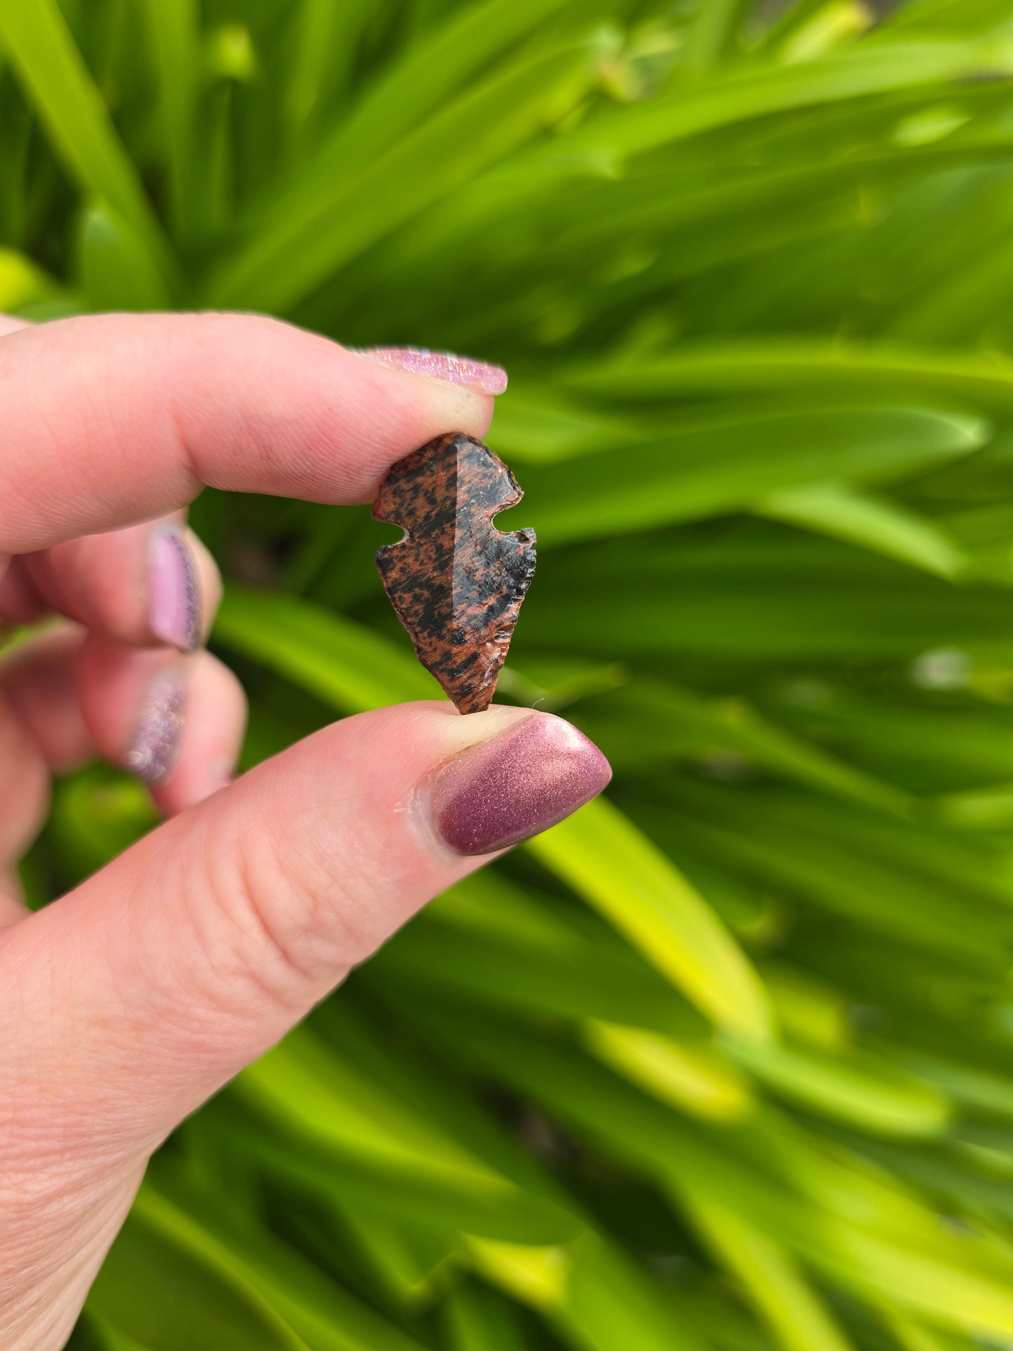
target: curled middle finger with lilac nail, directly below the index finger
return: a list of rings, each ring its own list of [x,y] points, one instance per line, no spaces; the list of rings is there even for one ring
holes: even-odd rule
[[[220,600],[217,566],[180,515],[24,554],[0,584],[0,615],[57,611],[122,643],[180,651],[204,642]]]

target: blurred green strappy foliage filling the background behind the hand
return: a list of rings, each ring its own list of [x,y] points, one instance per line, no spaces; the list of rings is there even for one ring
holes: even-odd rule
[[[1010,76],[1010,0],[0,0],[0,307],[504,362],[501,693],[617,771],[182,1127],[80,1347],[1013,1344]],[[249,761],[432,689],[366,511],[193,516]],[[149,824],[63,782],[34,896]]]

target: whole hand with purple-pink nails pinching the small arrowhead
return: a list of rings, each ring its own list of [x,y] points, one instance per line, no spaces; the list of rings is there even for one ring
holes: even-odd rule
[[[205,484],[371,500],[486,393],[266,319],[0,327],[0,1344],[61,1347],[151,1151],[428,898],[608,781],[561,719],[350,717],[228,782],[235,678],[203,651]],[[172,819],[36,915],[14,863],[51,770],[104,754]]]

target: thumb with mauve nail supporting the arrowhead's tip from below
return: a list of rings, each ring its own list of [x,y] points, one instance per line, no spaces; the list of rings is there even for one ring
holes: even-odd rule
[[[63,1156],[146,1155],[424,901],[609,773],[527,709],[407,704],[316,734],[0,938],[0,1102]]]

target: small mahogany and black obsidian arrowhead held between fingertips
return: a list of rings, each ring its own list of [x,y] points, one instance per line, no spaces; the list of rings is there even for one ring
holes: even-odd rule
[[[493,527],[523,496],[488,446],[450,432],[393,465],[373,507],[407,531],[377,551],[390,603],[462,713],[492,703],[535,574],[535,531]]]

